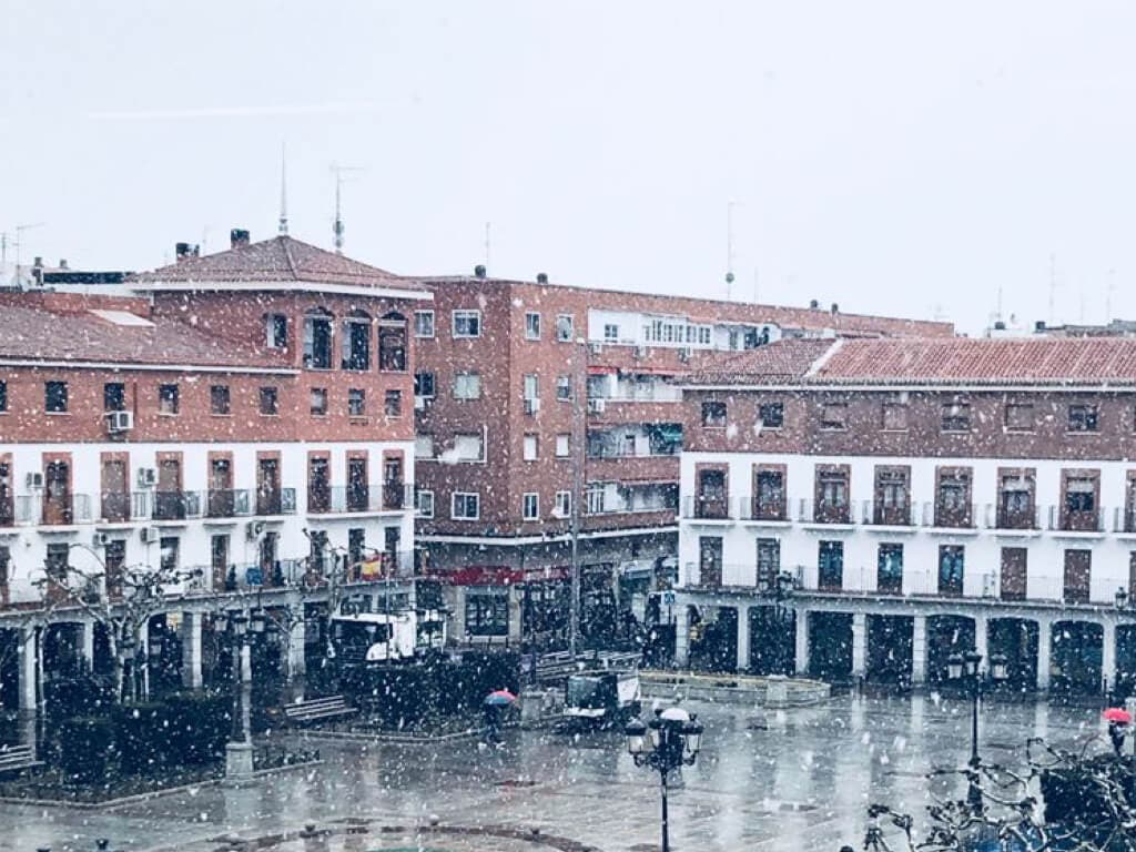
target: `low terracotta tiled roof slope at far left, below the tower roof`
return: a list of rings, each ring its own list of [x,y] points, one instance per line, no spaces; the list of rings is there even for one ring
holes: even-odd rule
[[[144,325],[89,311],[56,312],[0,304],[0,359],[95,361],[140,366],[290,368],[273,350],[214,337],[185,323],[148,317]]]

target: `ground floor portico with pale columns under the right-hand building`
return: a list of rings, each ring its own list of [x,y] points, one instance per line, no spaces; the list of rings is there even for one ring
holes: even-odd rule
[[[976,649],[1006,658],[1005,688],[1136,688],[1136,616],[1113,608],[686,588],[675,609],[677,662],[692,668],[908,688],[939,684],[952,654]]]

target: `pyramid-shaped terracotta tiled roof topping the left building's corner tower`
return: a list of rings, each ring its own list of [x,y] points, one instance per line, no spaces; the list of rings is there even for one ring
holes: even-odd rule
[[[291,236],[277,236],[200,258],[185,258],[152,273],[133,275],[130,281],[142,284],[195,281],[310,282],[416,289],[415,282],[394,273],[325,251]]]

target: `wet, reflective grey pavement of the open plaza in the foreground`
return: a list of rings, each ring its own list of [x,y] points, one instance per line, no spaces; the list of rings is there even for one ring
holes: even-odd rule
[[[835,698],[770,716],[763,728],[743,708],[686,707],[707,730],[696,765],[671,792],[676,852],[860,847],[869,802],[918,819],[929,795],[924,775],[961,766],[969,754],[969,703],[933,695]],[[1028,736],[1069,744],[1102,732],[1095,708],[991,704],[983,716],[983,755],[1002,763],[1020,762]],[[109,837],[115,850],[219,852],[226,835],[282,833],[293,837],[276,843],[281,852],[553,847],[537,835],[525,841],[469,835],[469,828],[513,837],[536,829],[550,842],[567,838],[602,852],[658,849],[658,775],[634,766],[617,733],[511,730],[495,749],[468,740],[414,745],[314,737],[304,745],[318,745],[324,763],[245,787],[204,786],[102,811],[0,804],[0,850],[85,852],[97,837]],[[414,830],[432,821],[462,830]],[[296,838],[309,822],[328,833]],[[406,830],[382,834],[383,826]]]

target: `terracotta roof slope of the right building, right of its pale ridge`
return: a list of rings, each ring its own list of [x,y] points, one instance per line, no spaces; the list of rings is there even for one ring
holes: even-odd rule
[[[1136,340],[849,340],[815,383],[1136,384]]]

